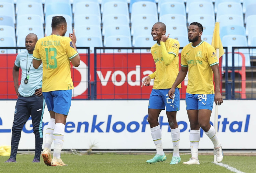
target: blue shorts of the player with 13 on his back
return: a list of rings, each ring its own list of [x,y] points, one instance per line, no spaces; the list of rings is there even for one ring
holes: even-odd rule
[[[71,106],[72,90],[43,92],[48,111],[68,115]]]

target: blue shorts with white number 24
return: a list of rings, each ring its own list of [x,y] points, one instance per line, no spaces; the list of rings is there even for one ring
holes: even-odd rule
[[[188,94],[186,93],[186,109],[209,109],[212,111],[214,94]]]

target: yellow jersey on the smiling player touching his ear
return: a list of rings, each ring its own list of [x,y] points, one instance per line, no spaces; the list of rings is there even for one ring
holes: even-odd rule
[[[163,61],[161,45],[156,43],[151,47],[151,53],[156,63],[155,75],[152,75],[153,78],[155,77],[153,89],[171,88],[179,73],[180,43],[175,39],[168,38],[165,42],[165,47],[169,54],[175,55],[175,58],[169,65],[165,65]],[[177,88],[181,88],[181,84]]]

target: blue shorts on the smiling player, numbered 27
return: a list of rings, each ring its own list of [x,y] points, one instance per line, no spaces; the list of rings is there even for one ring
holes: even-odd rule
[[[152,89],[148,103],[148,109],[162,109],[166,107],[167,112],[180,110],[180,89],[175,88],[173,99],[169,98],[168,92],[170,89]]]

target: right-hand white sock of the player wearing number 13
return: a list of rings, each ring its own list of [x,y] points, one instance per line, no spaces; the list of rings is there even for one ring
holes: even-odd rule
[[[64,132],[65,132],[65,125],[62,123],[56,123],[55,129],[53,132],[53,156],[57,159],[60,158],[60,152],[62,149],[62,145],[64,142]]]

